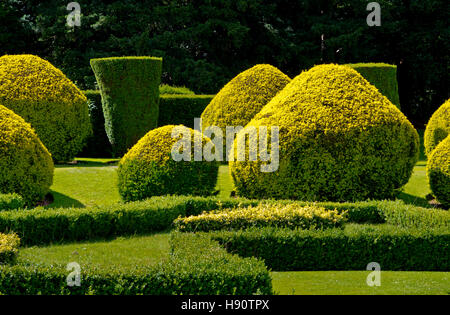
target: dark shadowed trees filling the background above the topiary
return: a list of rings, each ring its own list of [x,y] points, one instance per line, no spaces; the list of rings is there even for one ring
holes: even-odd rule
[[[367,26],[367,0],[79,0],[75,28],[69,2],[3,0],[1,53],[44,57],[83,89],[95,84],[91,58],[161,56],[163,82],[197,93],[256,63],[294,77],[322,61],[387,62],[419,126],[449,97],[448,0],[379,0],[380,27]]]

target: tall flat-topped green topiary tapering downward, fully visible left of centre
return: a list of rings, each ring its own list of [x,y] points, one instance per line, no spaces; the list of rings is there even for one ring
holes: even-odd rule
[[[115,154],[122,156],[158,124],[162,59],[92,59],[91,67],[102,95],[106,133]]]

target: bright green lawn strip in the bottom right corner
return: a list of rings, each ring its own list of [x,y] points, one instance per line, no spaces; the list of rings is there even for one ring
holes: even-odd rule
[[[272,272],[277,294],[450,294],[450,273],[381,271],[381,286],[369,287],[370,271]]]

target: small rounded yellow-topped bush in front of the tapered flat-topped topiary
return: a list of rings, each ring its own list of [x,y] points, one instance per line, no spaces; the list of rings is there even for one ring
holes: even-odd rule
[[[172,130],[182,128],[190,133],[190,161],[175,161],[172,147],[179,138]],[[194,133],[184,126],[164,126],[147,133],[119,162],[119,192],[125,201],[142,200],[161,195],[210,195],[214,192],[218,165],[204,160],[194,161]],[[203,137],[205,145],[209,139]],[[198,141],[200,143],[200,141]],[[211,143],[210,143],[211,144]],[[186,149],[188,150],[188,149]],[[189,154],[190,153],[190,154]]]

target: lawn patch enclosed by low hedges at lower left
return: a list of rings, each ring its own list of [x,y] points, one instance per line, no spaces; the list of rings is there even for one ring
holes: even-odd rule
[[[169,252],[170,233],[140,237],[119,237],[112,241],[84,242],[44,247],[28,247],[19,251],[21,263],[67,265],[77,262],[102,268],[153,265],[164,260]]]

